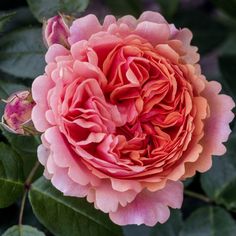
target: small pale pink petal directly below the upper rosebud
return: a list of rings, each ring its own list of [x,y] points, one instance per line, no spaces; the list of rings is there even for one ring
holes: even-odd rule
[[[49,47],[45,55],[45,60],[47,63],[55,62],[57,57],[67,55],[69,55],[69,51],[65,47],[61,44],[53,44]]]

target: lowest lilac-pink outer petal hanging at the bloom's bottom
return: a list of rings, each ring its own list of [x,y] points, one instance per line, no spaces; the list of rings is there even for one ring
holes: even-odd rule
[[[183,185],[181,182],[169,181],[166,187],[156,192],[142,191],[133,202],[126,207],[119,207],[109,214],[111,220],[119,225],[146,224],[154,226],[164,223],[169,218],[168,206],[180,208],[183,201]]]

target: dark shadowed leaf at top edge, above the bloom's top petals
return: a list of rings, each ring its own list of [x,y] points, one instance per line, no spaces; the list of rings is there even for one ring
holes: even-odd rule
[[[105,4],[117,16],[130,14],[138,17],[143,9],[140,0],[105,0]]]

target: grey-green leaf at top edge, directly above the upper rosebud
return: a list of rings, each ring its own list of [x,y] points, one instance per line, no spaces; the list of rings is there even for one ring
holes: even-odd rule
[[[30,10],[40,22],[57,15],[58,12],[77,15],[84,11],[89,4],[89,0],[27,0],[27,2]]]

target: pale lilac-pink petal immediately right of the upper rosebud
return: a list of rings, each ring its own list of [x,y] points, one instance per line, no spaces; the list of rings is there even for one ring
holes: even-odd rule
[[[75,20],[70,27],[69,43],[72,45],[80,40],[88,40],[92,34],[102,29],[95,15],[87,15]]]

